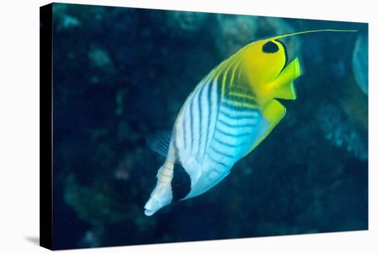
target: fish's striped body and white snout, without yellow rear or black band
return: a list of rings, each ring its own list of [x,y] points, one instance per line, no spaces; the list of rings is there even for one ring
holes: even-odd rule
[[[240,58],[239,58],[240,59]],[[144,206],[151,216],[173,201],[175,163],[190,176],[190,192],[201,195],[225,178],[269,128],[255,94],[231,56],[215,67],[192,91],[173,127],[166,162]]]

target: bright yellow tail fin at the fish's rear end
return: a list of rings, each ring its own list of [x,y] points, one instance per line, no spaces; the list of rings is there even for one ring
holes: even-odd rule
[[[298,57],[295,58],[282,72],[276,77],[272,84],[273,97],[281,99],[296,100],[296,89],[293,80],[302,74],[302,68]]]

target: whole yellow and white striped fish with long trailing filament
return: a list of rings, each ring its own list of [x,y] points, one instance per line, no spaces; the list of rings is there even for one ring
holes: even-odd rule
[[[269,135],[286,112],[276,98],[295,100],[293,80],[302,74],[298,57],[286,65],[286,48],[278,39],[307,32],[344,31],[313,30],[253,41],[201,80],[171,134],[149,141],[166,160],[144,206],[147,216],[206,192]]]

